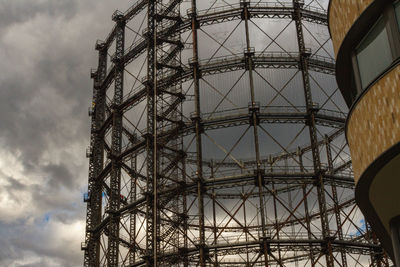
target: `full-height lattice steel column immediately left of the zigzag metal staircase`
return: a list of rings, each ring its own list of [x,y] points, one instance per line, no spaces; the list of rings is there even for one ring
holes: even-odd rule
[[[147,210],[146,266],[157,266],[157,0],[147,10]]]

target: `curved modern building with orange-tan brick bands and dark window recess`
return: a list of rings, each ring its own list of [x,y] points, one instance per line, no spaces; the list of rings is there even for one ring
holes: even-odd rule
[[[328,17],[356,201],[399,266],[400,1],[332,0]]]

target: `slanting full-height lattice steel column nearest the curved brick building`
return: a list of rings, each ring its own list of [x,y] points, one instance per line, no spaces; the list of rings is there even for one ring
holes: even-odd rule
[[[334,265],[333,261],[333,254],[332,254],[332,247],[331,247],[331,240],[329,235],[329,223],[328,223],[328,216],[326,212],[326,199],[325,199],[325,189],[324,189],[324,180],[323,180],[323,173],[321,168],[321,160],[318,148],[318,138],[317,138],[317,129],[315,124],[315,113],[317,112],[312,100],[311,94],[311,86],[310,86],[310,79],[308,73],[308,58],[311,55],[310,51],[307,51],[304,43],[304,34],[303,34],[303,23],[302,23],[302,9],[303,9],[304,2],[301,0],[293,0],[293,20],[296,24],[296,33],[297,33],[297,42],[299,47],[300,53],[300,67],[301,67],[301,74],[303,78],[303,86],[304,86],[304,95],[305,95],[305,102],[307,107],[307,114],[308,114],[308,128],[310,131],[310,141],[311,141],[311,149],[312,149],[312,156],[313,156],[313,163],[314,163],[314,172],[315,172],[315,179],[316,185],[318,190],[318,204],[321,213],[321,227],[322,227],[322,236],[326,242],[326,264],[327,267],[331,267]]]

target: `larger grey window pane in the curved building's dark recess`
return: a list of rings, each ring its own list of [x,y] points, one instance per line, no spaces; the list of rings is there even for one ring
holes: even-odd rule
[[[392,63],[392,52],[383,19],[380,19],[356,49],[362,88],[365,89]]]

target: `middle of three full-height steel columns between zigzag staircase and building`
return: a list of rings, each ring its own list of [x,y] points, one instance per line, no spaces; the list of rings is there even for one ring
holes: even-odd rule
[[[261,231],[262,231],[262,250],[264,253],[264,263],[265,266],[268,266],[268,246],[267,246],[267,234],[266,234],[266,214],[265,214],[265,205],[264,205],[264,195],[263,195],[263,186],[264,186],[264,178],[262,176],[261,171],[261,161],[260,161],[260,146],[258,141],[258,110],[255,101],[255,93],[254,93],[254,79],[253,79],[253,55],[250,44],[250,32],[249,32],[249,17],[250,12],[248,10],[248,6],[250,5],[249,1],[241,1],[240,2],[242,10],[242,20],[245,23],[246,30],[246,51],[245,56],[247,59],[247,68],[249,72],[249,82],[250,82],[250,94],[251,94],[251,124],[253,125],[253,134],[254,134],[254,147],[256,152],[256,162],[257,162],[257,186],[258,186],[258,196],[260,200],[260,215],[261,215]],[[259,108],[259,107],[258,107]]]

